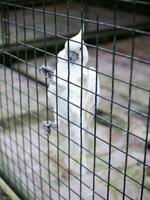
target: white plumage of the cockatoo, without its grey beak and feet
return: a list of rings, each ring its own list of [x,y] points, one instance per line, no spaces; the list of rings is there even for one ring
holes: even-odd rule
[[[72,140],[80,145],[81,140],[81,130],[79,128],[82,120],[82,128],[87,130],[88,124],[93,119],[95,113],[95,91],[96,91],[96,71],[94,68],[86,68],[88,62],[88,50],[81,41],[81,31],[71,40],[65,43],[64,49],[58,54],[57,70],[54,75],[57,79],[57,105],[56,109],[56,85],[49,85],[49,99],[50,104],[54,108],[54,111],[58,111],[59,125],[61,121],[66,123],[69,113],[70,123],[70,134]],[[69,51],[76,52],[78,54],[78,59],[75,63],[70,62],[68,59],[68,47]],[[82,52],[81,52],[82,50]],[[83,56],[83,57],[82,57]],[[81,72],[82,71],[82,72]],[[57,72],[57,74],[56,74]],[[69,81],[69,83],[68,83]],[[83,87],[81,91],[81,85]],[[69,89],[68,89],[69,86]],[[68,93],[69,91],[69,93]],[[81,94],[82,93],[82,94]],[[97,94],[100,94],[99,78],[97,77]],[[82,95],[82,99],[81,99]],[[69,110],[68,110],[68,100],[69,100]],[[82,119],[81,119],[81,101],[82,101]],[[97,98],[97,104],[99,103],[99,98]],[[87,111],[87,112],[86,112]],[[90,114],[91,113],[91,114]],[[63,120],[60,116],[66,118]],[[56,122],[56,118],[55,118]],[[75,126],[76,124],[77,126]],[[66,130],[67,132],[67,130]],[[68,133],[66,133],[68,134]],[[82,141],[83,146],[87,147],[87,133],[82,131]],[[66,146],[67,147],[67,146]],[[75,159],[79,161],[80,147],[73,145]],[[83,164],[87,165],[86,153],[83,154]]]

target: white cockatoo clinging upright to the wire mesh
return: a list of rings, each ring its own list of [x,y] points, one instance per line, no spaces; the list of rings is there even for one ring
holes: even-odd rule
[[[53,125],[58,124],[59,131],[68,137],[65,152],[69,148],[69,167],[76,172],[79,172],[81,160],[82,172],[88,168],[86,149],[89,133],[86,131],[95,115],[95,95],[100,94],[98,73],[94,68],[86,67],[89,55],[82,32],[67,40],[64,49],[58,53],[56,70],[48,88],[50,105],[55,113]],[[51,71],[49,67],[42,68],[45,69]],[[63,130],[61,123],[66,125]],[[65,163],[68,168],[68,158]]]

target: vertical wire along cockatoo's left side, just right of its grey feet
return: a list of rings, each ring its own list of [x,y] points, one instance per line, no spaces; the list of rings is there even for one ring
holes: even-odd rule
[[[59,172],[59,160],[60,160],[60,156],[59,156],[59,132],[58,132],[58,70],[57,70],[57,12],[56,12],[56,2],[54,3],[54,24],[55,24],[55,63],[56,63],[56,121],[57,121],[57,176],[58,176],[58,199],[60,199],[60,172]]]

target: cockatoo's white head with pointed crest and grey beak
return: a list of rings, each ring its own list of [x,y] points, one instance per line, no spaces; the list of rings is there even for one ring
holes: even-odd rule
[[[69,42],[69,44],[68,44]],[[65,43],[66,56],[72,64],[85,66],[88,62],[88,50],[82,40],[82,30]]]

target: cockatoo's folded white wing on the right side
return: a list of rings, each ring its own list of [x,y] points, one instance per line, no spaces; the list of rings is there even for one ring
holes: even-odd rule
[[[83,92],[83,110],[84,118],[88,122],[95,114],[95,108],[100,100],[100,81],[99,74],[94,68],[84,69],[84,92]],[[97,97],[95,98],[95,95]],[[97,101],[97,102],[96,102]]]

